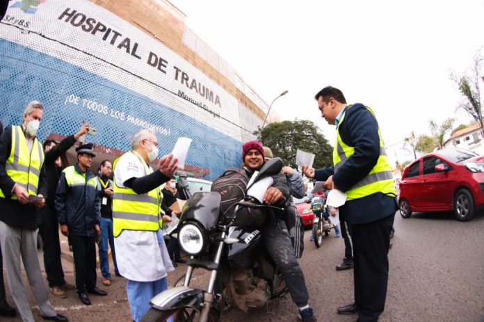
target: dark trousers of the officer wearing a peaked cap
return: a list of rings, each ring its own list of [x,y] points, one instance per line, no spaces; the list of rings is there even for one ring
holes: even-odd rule
[[[95,237],[72,235],[76,291],[86,292],[96,286],[96,241]]]

